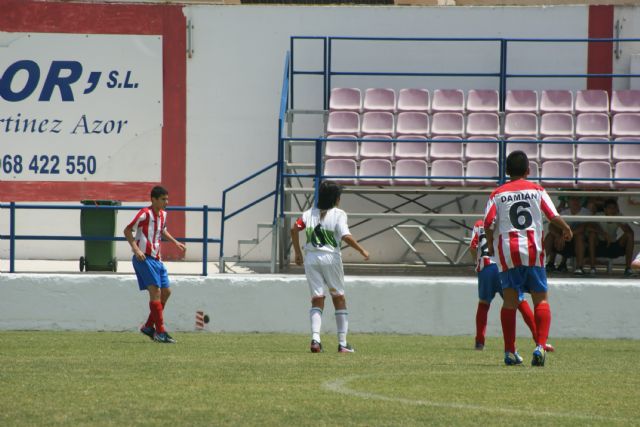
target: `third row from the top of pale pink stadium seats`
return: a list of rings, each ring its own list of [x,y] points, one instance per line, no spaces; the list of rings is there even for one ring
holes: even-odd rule
[[[486,142],[486,141],[496,142]],[[401,135],[397,142],[389,135],[330,135],[324,156],[330,158],[367,158],[498,160],[500,142],[496,137],[439,136],[428,142],[425,136]],[[473,142],[485,141],[485,142]],[[611,144],[608,138],[583,137],[577,141],[568,137],[545,137],[539,143],[535,137],[510,137],[506,140],[506,154],[515,150],[527,153],[534,161],[547,160],[602,160],[608,162],[640,161],[640,138],[617,138]]]

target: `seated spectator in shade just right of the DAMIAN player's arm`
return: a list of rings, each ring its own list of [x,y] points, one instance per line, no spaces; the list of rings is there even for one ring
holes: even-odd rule
[[[586,223],[571,222],[570,217],[574,215],[591,215],[591,211],[582,207],[583,200],[580,197],[570,196],[566,203],[567,207],[559,209],[560,215],[567,218],[567,223],[573,232],[573,239],[566,242],[562,237],[562,230],[553,224],[549,225],[549,232],[544,239],[544,250],[547,252],[547,272],[567,271],[567,259],[576,258],[576,268],[574,274],[584,275],[584,251],[585,251],[585,230]],[[560,264],[555,266],[556,254],[562,255]]]

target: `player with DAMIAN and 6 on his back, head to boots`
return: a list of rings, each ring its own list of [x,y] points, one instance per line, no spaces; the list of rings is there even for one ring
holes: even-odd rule
[[[537,346],[533,366],[544,366],[551,310],[547,302],[542,216],[562,230],[566,241],[573,233],[551,202],[544,188],[526,180],[529,159],[522,151],[507,157],[510,181],[491,193],[484,218],[489,255],[496,256],[503,291],[500,312],[507,365],[522,363],[516,351],[516,308],[521,292],[530,292],[534,304]],[[494,235],[495,238],[494,238]]]

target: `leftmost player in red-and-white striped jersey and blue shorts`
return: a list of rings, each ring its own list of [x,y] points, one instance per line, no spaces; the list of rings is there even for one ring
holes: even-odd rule
[[[184,244],[167,231],[169,192],[160,186],[151,190],[151,206],[138,211],[133,221],[124,229],[124,235],[133,250],[133,268],[141,291],[149,292],[149,318],[140,332],[154,341],[175,343],[164,327],[164,307],[171,295],[167,269],[160,260],[162,237],[185,251]],[[134,233],[135,232],[135,237]]]

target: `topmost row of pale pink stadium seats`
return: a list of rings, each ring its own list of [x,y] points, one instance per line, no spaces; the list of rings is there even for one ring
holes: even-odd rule
[[[499,111],[497,90],[436,89],[433,96],[427,89],[370,88],[364,96],[357,88],[331,90],[329,111],[416,111],[437,112],[493,112]],[[530,113],[640,113],[640,90],[614,90],[609,96],[603,90],[579,90],[575,97],[570,90],[509,90],[505,98],[505,112]]]

